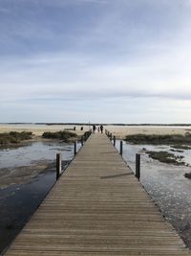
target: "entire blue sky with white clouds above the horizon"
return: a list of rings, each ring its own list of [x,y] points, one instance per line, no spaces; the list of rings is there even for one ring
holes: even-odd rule
[[[190,0],[0,0],[0,123],[191,123]]]

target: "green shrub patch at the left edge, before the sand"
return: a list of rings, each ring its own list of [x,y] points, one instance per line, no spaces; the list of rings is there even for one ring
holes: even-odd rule
[[[30,140],[32,139],[32,132],[31,131],[11,131],[0,133],[0,146],[8,146],[10,144],[20,143],[23,140]]]

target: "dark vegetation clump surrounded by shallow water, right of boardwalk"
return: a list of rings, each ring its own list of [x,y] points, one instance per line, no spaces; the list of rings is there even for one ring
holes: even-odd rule
[[[174,165],[184,165],[185,163],[181,161],[182,155],[175,155],[174,153],[167,151],[146,151],[149,157],[158,160],[162,163],[174,164]]]

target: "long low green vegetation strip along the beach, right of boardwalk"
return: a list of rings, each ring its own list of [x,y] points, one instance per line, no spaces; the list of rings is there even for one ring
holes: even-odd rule
[[[127,135],[125,141],[133,144],[150,144],[150,145],[191,145],[191,134],[187,133],[185,135],[180,134],[134,134]]]

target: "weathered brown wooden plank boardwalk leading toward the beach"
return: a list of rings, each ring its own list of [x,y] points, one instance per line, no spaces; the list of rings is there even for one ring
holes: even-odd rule
[[[104,134],[93,134],[6,256],[190,255]]]

